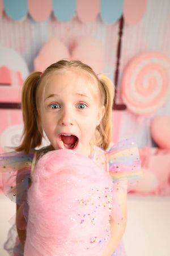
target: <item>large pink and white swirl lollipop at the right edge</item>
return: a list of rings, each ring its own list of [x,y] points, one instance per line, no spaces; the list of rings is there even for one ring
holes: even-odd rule
[[[122,78],[122,100],[131,112],[149,115],[161,108],[170,96],[170,61],[160,52],[135,57]]]

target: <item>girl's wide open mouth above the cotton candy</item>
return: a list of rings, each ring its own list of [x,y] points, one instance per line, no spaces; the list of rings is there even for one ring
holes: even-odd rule
[[[59,134],[58,144],[61,149],[74,150],[78,144],[78,137],[73,134]]]

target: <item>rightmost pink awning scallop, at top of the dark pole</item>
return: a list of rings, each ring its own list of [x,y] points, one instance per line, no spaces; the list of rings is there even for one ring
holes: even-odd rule
[[[123,14],[127,23],[135,24],[141,21],[146,11],[147,0],[124,0]]]

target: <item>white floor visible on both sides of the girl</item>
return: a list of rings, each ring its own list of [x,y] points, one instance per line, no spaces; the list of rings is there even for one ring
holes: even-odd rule
[[[15,204],[0,194],[0,205],[0,255],[7,256],[3,243]],[[128,256],[170,256],[170,197],[129,195],[124,242]]]

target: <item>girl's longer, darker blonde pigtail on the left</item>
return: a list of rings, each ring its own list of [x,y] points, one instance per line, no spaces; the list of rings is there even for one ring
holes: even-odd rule
[[[40,72],[34,72],[27,77],[22,88],[22,110],[24,130],[22,143],[15,149],[29,152],[31,148],[41,145],[42,128],[36,106],[36,90],[40,82]]]

